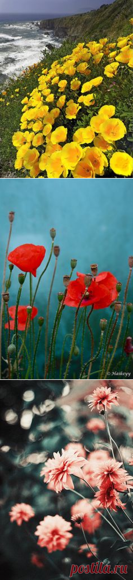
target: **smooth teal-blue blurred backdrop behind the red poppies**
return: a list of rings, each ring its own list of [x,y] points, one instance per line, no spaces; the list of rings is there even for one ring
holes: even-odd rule
[[[80,272],[90,271],[91,263],[98,263],[98,271],[111,271],[124,288],[128,276],[128,256],[132,255],[132,183],[131,180],[62,180],[62,179],[14,179],[1,180],[1,243],[0,243],[0,292],[2,271],[9,231],[8,213],[15,211],[13,233],[10,241],[10,251],[20,244],[42,244],[46,248],[43,264],[37,271],[37,278],[47,263],[51,248],[50,228],[55,227],[55,244],[59,244],[60,255],[56,271],[50,305],[50,333],[53,327],[55,312],[58,305],[57,293],[64,290],[63,275],[70,273],[71,258],[77,259],[77,269]],[[39,316],[45,317],[48,292],[50,290],[55,259],[52,256],[39,292],[36,296],[36,306]],[[7,268],[8,273],[8,268]],[[18,269],[14,267],[12,287],[10,289],[10,305],[16,304],[18,291]],[[33,289],[37,278],[33,278]],[[120,298],[120,299],[121,299]],[[132,283],[128,292],[128,301],[132,302]],[[29,303],[29,278],[26,276],[22,288],[21,304]],[[66,307],[63,311],[58,333],[56,356],[59,359],[64,335],[73,328],[75,309]],[[95,351],[100,338],[100,318],[109,320],[110,309],[97,310],[92,313],[92,327],[95,336]],[[126,317],[125,317],[126,323]],[[37,329],[37,322],[36,322]],[[131,335],[130,327],[129,334]],[[80,336],[77,341],[80,347]],[[89,358],[89,338],[86,329],[85,354]],[[70,342],[66,343],[66,360],[70,350]],[[44,365],[44,333],[38,351],[40,378],[43,378]],[[73,362],[77,366],[79,360]],[[71,376],[73,378],[73,376]]]

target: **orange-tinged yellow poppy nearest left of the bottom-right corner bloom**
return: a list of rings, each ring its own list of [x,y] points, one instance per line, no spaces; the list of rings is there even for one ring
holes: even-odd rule
[[[92,163],[94,172],[97,175],[104,175],[104,167],[108,167],[108,161],[104,153],[98,147],[85,147],[84,151],[84,160],[89,160]]]

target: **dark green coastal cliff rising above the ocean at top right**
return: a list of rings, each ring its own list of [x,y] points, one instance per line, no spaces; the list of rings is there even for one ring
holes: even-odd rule
[[[132,0],[116,0],[112,4],[103,4],[98,10],[91,10],[74,16],[41,20],[41,30],[53,30],[55,36],[81,40],[86,35],[91,39],[100,36],[115,38],[131,32],[129,19],[132,13]]]

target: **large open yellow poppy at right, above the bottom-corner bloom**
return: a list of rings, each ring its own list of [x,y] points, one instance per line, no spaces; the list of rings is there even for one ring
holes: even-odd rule
[[[127,133],[126,126],[120,119],[107,119],[101,125],[100,131],[104,139],[109,143],[122,139]]]

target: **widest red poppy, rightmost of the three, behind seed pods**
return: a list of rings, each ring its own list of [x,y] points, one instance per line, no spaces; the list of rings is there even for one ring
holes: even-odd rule
[[[77,308],[83,293],[85,292],[85,274],[77,272],[77,280],[70,282],[67,288],[64,304]],[[94,305],[94,310],[110,306],[117,298],[117,280],[110,272],[101,272],[88,288],[89,296],[85,296],[81,302],[82,306]]]

